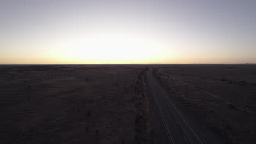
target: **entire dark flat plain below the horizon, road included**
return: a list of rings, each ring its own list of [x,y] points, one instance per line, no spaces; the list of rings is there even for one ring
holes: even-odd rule
[[[1,65],[1,143],[256,143],[256,65]]]

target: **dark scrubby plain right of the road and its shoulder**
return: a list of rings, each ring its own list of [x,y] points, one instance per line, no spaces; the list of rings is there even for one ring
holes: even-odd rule
[[[185,111],[228,142],[256,142],[256,65],[152,66]]]

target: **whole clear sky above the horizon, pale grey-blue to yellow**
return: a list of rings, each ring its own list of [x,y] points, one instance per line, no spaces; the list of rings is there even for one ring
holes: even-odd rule
[[[0,0],[0,63],[256,63],[255,7],[255,0]]]

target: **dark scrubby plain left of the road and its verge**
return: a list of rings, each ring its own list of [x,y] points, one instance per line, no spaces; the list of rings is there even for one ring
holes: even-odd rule
[[[1,143],[146,142],[143,69],[1,66]]]

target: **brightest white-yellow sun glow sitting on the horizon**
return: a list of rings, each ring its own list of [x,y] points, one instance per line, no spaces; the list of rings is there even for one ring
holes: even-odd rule
[[[53,55],[65,63],[150,63],[166,48],[162,41],[141,35],[94,34],[62,41]]]

